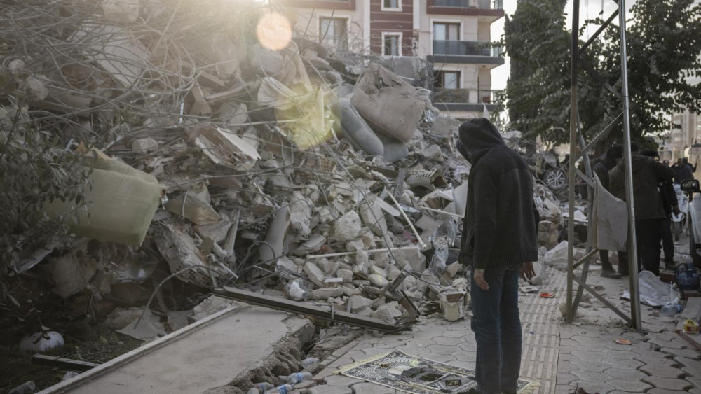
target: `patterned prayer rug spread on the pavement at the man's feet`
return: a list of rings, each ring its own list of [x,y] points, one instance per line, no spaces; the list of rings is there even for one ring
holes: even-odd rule
[[[398,350],[345,365],[339,372],[414,394],[461,394],[477,388],[475,370],[409,356]],[[519,379],[518,393],[533,393],[538,386],[536,382]]]

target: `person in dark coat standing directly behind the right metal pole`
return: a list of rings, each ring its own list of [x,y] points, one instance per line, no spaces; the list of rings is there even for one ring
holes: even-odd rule
[[[665,209],[660,198],[658,184],[672,180],[674,171],[650,157],[640,154],[637,144],[631,143],[633,173],[633,201],[635,203],[636,248],[639,261],[648,271],[660,275],[660,242],[662,241],[662,220]],[[625,169],[620,162],[609,173],[611,192],[615,197],[626,201]],[[628,265],[619,262],[618,269],[628,274]]]

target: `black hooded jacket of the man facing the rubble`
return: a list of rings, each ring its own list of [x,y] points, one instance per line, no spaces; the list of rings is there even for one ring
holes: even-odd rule
[[[472,163],[460,262],[488,269],[537,261],[540,217],[526,162],[484,118],[463,123],[458,136]]]

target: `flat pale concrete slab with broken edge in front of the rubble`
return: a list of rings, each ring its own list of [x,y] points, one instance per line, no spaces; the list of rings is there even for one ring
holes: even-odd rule
[[[41,393],[202,393],[259,367],[275,346],[309,325],[304,318],[272,309],[229,311],[128,362],[113,368],[103,365],[102,373],[84,376],[88,372],[72,385],[59,384]]]

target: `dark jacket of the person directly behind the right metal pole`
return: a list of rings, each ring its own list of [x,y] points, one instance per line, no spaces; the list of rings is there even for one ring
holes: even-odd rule
[[[658,185],[672,180],[674,171],[660,162],[639,153],[631,155],[633,173],[633,201],[635,202],[635,220],[664,219],[665,209],[662,205]],[[619,163],[609,173],[611,193],[626,201],[625,169]]]

